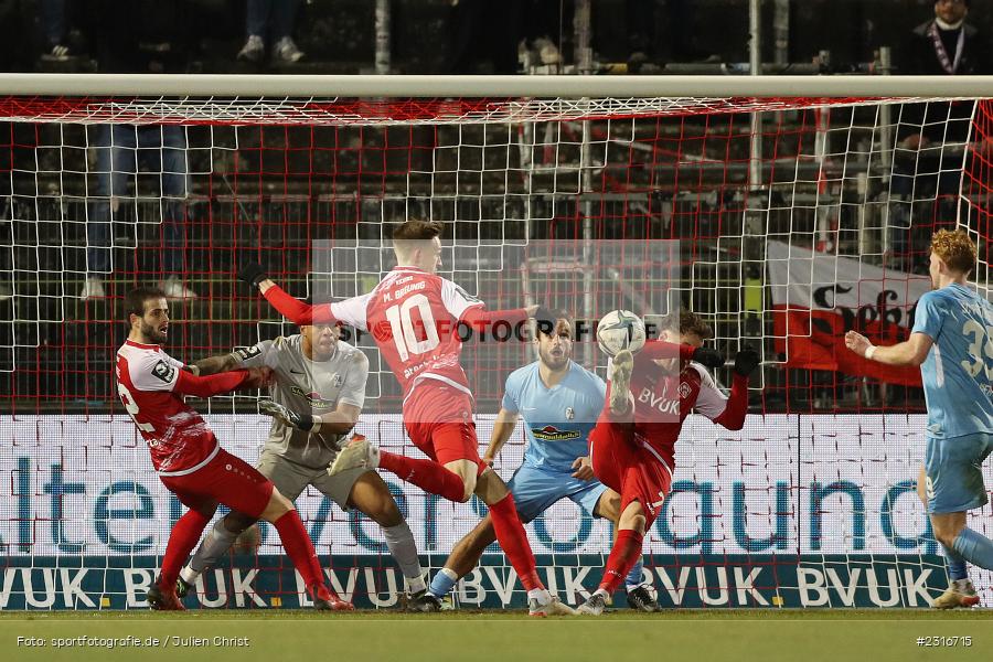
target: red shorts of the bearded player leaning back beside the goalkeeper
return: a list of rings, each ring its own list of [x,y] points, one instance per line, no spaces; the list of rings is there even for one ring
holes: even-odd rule
[[[223,503],[233,511],[258,517],[273,495],[273,481],[242,458],[217,449],[206,466],[183,476],[160,476],[170,492],[191,510]]]

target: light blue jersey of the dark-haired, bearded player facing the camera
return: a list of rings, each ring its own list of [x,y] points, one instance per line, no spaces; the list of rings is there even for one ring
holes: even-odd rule
[[[572,473],[573,462],[587,455],[586,440],[604,408],[607,385],[596,374],[569,361],[569,372],[548,388],[535,361],[506,378],[503,408],[520,414],[527,434],[524,466]]]

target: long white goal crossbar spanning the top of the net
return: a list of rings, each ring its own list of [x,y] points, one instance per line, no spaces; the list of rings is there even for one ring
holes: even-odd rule
[[[993,76],[0,74],[0,95],[314,97],[993,97]]]

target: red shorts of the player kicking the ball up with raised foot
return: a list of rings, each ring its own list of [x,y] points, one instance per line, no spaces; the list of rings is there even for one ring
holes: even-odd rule
[[[620,494],[621,512],[638,501],[651,526],[672,488],[672,473],[651,447],[634,434],[633,423],[617,423],[600,414],[589,434],[589,459],[601,483]]]

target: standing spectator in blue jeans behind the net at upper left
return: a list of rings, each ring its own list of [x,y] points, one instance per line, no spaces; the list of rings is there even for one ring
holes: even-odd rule
[[[105,73],[186,73],[193,55],[183,2],[103,0],[96,35],[98,64]],[[86,282],[82,299],[105,296],[104,275],[111,271],[113,221],[124,199],[138,196],[138,171],[160,177],[162,234],[161,288],[170,298],[193,298],[182,280],[185,270],[185,197],[189,194],[186,132],[175,125],[94,125],[88,129],[94,150],[96,188],[87,191]],[[134,200],[132,200],[134,202]],[[135,214],[127,216],[137,222]]]

